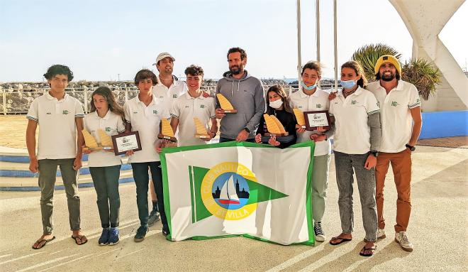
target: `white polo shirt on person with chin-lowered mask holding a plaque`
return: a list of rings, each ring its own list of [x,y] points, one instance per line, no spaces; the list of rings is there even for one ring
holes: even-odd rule
[[[301,111],[328,111],[330,101],[328,100],[328,92],[319,88],[312,95],[304,94],[302,87],[293,94],[289,95],[291,107],[300,109]],[[318,134],[317,131],[305,131],[297,134],[297,142],[303,143],[311,141],[311,134]],[[313,156],[323,156],[331,153],[330,139],[316,143],[316,150]]]

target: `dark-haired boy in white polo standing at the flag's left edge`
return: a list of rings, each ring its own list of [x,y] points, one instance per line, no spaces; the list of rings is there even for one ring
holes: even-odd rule
[[[143,241],[148,232],[148,169],[151,172],[152,182],[155,186],[157,205],[159,206],[162,233],[169,234],[169,226],[164,212],[164,198],[162,197],[162,172],[160,156],[156,148],[160,144],[157,134],[160,131],[161,119],[169,119],[169,112],[162,102],[153,94],[152,88],[156,82],[156,75],[150,70],[140,70],[135,75],[135,85],[140,90],[138,96],[128,100],[124,105],[126,117],[126,131],[138,131],[141,142],[141,151],[128,152],[133,170],[137,192],[138,217],[141,226],[135,234],[135,241]]]

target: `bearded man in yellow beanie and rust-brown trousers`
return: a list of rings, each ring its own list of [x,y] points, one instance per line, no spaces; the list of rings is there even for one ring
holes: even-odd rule
[[[376,82],[367,85],[380,104],[381,144],[377,156],[376,200],[379,229],[385,238],[384,181],[389,164],[394,171],[396,191],[395,241],[405,251],[413,251],[406,229],[411,214],[411,153],[415,151],[422,120],[418,89],[401,77],[401,65],[392,55],[383,55],[374,67]]]

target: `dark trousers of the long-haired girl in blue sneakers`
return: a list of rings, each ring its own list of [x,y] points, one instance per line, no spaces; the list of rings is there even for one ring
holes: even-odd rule
[[[121,197],[118,194],[118,178],[122,165],[106,167],[90,167],[97,195],[97,205],[101,226],[103,228],[118,227],[118,212],[121,208]]]

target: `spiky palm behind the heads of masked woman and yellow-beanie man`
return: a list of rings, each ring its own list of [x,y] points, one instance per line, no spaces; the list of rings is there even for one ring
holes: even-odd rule
[[[364,45],[352,54],[351,59],[359,62],[369,82],[375,81],[374,66],[381,55],[393,55],[398,60],[401,54],[383,43]]]

